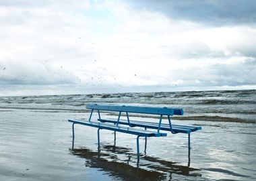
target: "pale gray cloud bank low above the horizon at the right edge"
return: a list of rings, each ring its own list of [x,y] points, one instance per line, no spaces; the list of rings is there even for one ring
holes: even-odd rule
[[[222,60],[224,61],[224,60]],[[242,86],[256,84],[256,59],[248,58],[230,64],[216,62],[203,68],[189,68],[174,72],[174,80],[183,86]]]

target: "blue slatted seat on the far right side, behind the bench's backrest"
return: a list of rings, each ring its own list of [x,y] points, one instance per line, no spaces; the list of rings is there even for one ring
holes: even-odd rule
[[[107,118],[107,119],[98,119],[102,123],[117,123],[117,119]],[[131,127],[146,127],[150,129],[158,129],[159,123],[152,123],[146,121],[132,121],[129,120],[130,124],[125,119],[120,119],[119,124],[121,125],[130,125]],[[173,125],[172,124],[172,133],[191,133],[193,131],[200,130],[201,127],[187,126],[187,125]],[[169,124],[162,123],[160,130],[171,131]]]

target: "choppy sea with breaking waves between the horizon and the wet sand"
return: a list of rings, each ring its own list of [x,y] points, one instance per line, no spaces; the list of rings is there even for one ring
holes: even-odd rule
[[[90,103],[180,107],[185,116],[177,119],[254,123],[256,90],[0,97],[3,110],[88,112],[86,105]]]

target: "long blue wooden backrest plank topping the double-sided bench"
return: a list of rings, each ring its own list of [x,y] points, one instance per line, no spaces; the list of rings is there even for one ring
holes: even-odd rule
[[[183,109],[167,107],[135,107],[135,106],[116,106],[116,105],[86,105],[87,109],[102,111],[121,111],[129,113],[143,113],[152,115],[183,115]]]

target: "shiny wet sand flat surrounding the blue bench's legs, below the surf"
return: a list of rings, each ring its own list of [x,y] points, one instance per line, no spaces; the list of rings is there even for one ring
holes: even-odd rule
[[[168,133],[148,139],[147,152],[137,164],[136,137],[75,126],[88,113],[0,109],[0,180],[256,180],[254,123],[174,120],[201,125],[191,134],[191,161],[187,135]],[[147,119],[147,118],[137,118]],[[152,118],[150,118],[152,119]],[[115,144],[115,145],[114,145]],[[188,166],[189,165],[189,166]]]

